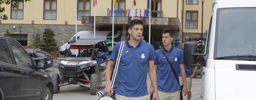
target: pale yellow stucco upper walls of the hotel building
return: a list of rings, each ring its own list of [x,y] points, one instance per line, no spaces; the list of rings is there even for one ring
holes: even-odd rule
[[[107,8],[111,9],[111,1],[113,0],[97,0],[96,5],[96,16],[107,16]],[[177,1],[178,1],[178,19],[182,25],[182,11],[183,11],[183,32],[188,33],[200,33],[201,32],[201,19],[202,19],[202,2],[198,1],[198,5],[186,5],[186,0],[162,0],[162,11],[163,17],[165,18],[177,18]],[[184,2],[184,5],[182,5]],[[204,16],[203,16],[203,33],[208,29],[209,20],[211,17],[212,3],[214,0],[205,0],[204,2]],[[134,16],[144,16],[144,9],[147,9],[147,0],[137,0],[136,6],[134,7]],[[14,20],[11,19],[11,5],[2,4],[1,7],[5,7],[5,12],[7,14],[8,20],[2,20],[2,23],[11,24],[31,24],[31,20],[34,20],[34,24],[54,24],[54,25],[64,25],[67,21],[68,25],[75,25],[76,22],[76,2],[75,0],[57,0],[57,15],[56,20],[43,20],[43,9],[44,0],[31,0],[30,2],[24,3],[24,19]],[[184,9],[182,10],[182,6]],[[125,9],[132,9],[132,0],[126,0]],[[185,29],[186,21],[186,11],[198,11],[198,29]],[[94,15],[93,0],[91,0],[91,16]],[[130,12],[132,16],[132,11]],[[78,25],[81,24],[81,20],[77,21]]]

